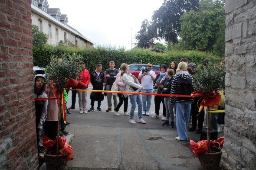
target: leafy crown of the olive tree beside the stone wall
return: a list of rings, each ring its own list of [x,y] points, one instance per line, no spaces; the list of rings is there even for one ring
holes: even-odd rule
[[[205,93],[224,89],[225,74],[225,70],[210,62],[207,67],[202,67],[193,75],[195,89]]]

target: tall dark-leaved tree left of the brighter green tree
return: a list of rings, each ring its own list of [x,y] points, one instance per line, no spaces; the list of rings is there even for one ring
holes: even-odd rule
[[[189,10],[197,10],[199,0],[164,0],[152,16],[152,31],[155,38],[168,43],[177,43],[181,31],[180,17]],[[170,47],[169,47],[170,48]]]

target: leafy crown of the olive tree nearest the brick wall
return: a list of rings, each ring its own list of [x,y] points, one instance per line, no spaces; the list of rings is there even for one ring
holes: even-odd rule
[[[46,66],[46,82],[54,83],[59,90],[64,88],[66,80],[73,78],[77,80],[82,66],[77,65],[76,61],[80,61],[81,56],[78,54],[65,54],[61,56],[51,56],[50,64]]]

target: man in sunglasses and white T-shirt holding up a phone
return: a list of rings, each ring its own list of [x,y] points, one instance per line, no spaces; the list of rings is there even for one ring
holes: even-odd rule
[[[153,93],[153,82],[156,78],[156,74],[152,71],[153,64],[148,63],[147,68],[142,69],[138,79],[141,79],[141,86],[143,90],[141,93]],[[143,95],[142,96],[142,104],[143,104],[143,113],[142,115],[149,116],[149,109],[151,106],[151,95]]]

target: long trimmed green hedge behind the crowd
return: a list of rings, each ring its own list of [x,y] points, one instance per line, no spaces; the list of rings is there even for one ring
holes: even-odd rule
[[[125,51],[123,48],[116,49],[111,47],[82,49],[46,45],[43,48],[33,48],[33,63],[35,66],[46,67],[52,55],[60,56],[65,53],[78,53],[81,55],[90,72],[95,70],[96,64],[98,63],[103,65],[102,70],[105,71],[108,68],[108,62],[111,60],[115,61],[116,68],[120,67],[122,63],[132,64],[141,63],[141,61],[144,64],[152,62],[157,65],[167,64],[169,66],[171,61],[177,61],[179,63],[181,58],[187,58],[189,62],[194,62],[197,65],[200,65],[204,58],[210,58],[215,63],[220,63],[220,61],[224,60],[224,58],[198,51],[167,51],[165,53],[156,53],[145,49]]]

